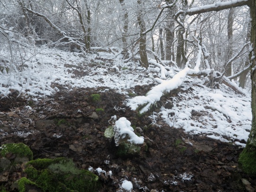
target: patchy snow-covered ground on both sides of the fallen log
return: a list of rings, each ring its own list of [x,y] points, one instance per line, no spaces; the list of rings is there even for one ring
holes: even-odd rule
[[[164,79],[164,74],[168,82],[175,75],[171,67],[165,67],[166,73],[161,66],[150,65],[145,70],[133,62],[124,63],[120,59],[120,50],[113,48],[112,51],[85,56],[49,48],[26,52],[23,71],[15,70],[15,67],[0,70],[0,94],[8,96],[11,90],[17,90],[21,95],[44,97],[58,91],[55,85],[60,84],[67,91],[77,87],[102,87],[101,91],[111,89],[128,95],[136,85],[156,85],[155,80],[158,83],[162,80],[155,78]],[[0,52],[0,55],[5,56],[5,53]],[[152,60],[151,63],[154,62]],[[185,77],[185,80],[181,82],[179,97],[169,99],[173,104],[171,109],[162,107],[160,112],[152,112],[155,123],[160,125],[163,120],[170,126],[183,128],[189,134],[206,135],[244,146],[239,141],[247,141],[251,128],[251,99],[236,94],[223,84],[217,90],[203,85],[202,79]],[[128,97],[127,104],[130,99]]]

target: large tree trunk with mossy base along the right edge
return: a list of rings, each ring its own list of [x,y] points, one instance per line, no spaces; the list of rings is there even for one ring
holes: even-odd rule
[[[252,80],[252,128],[247,140],[246,148],[239,157],[239,163],[243,170],[250,175],[256,175],[256,58],[252,58],[256,54],[256,0],[250,1],[251,14],[251,43],[253,50],[250,52],[251,61],[251,80]]]

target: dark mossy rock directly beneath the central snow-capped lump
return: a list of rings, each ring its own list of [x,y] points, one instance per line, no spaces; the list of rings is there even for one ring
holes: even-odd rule
[[[138,156],[139,153],[140,146],[130,142],[121,142],[117,150],[117,155],[121,158]]]

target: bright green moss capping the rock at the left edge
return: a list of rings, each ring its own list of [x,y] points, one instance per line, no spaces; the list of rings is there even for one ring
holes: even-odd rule
[[[18,157],[27,157],[29,160],[33,159],[33,153],[24,143],[8,143],[3,144],[0,149],[0,154],[5,157],[6,153],[13,153]]]

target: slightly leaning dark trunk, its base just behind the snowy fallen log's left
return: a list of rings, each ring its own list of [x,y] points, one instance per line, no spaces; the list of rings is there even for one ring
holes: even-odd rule
[[[137,4],[139,7],[142,7],[141,0],[137,0]],[[142,67],[148,68],[148,59],[146,54],[146,34],[143,34],[143,32],[146,31],[146,25],[143,17],[143,9],[140,8],[137,13],[137,21],[138,25],[140,27],[140,39],[139,39],[139,55],[141,59],[141,65]]]

